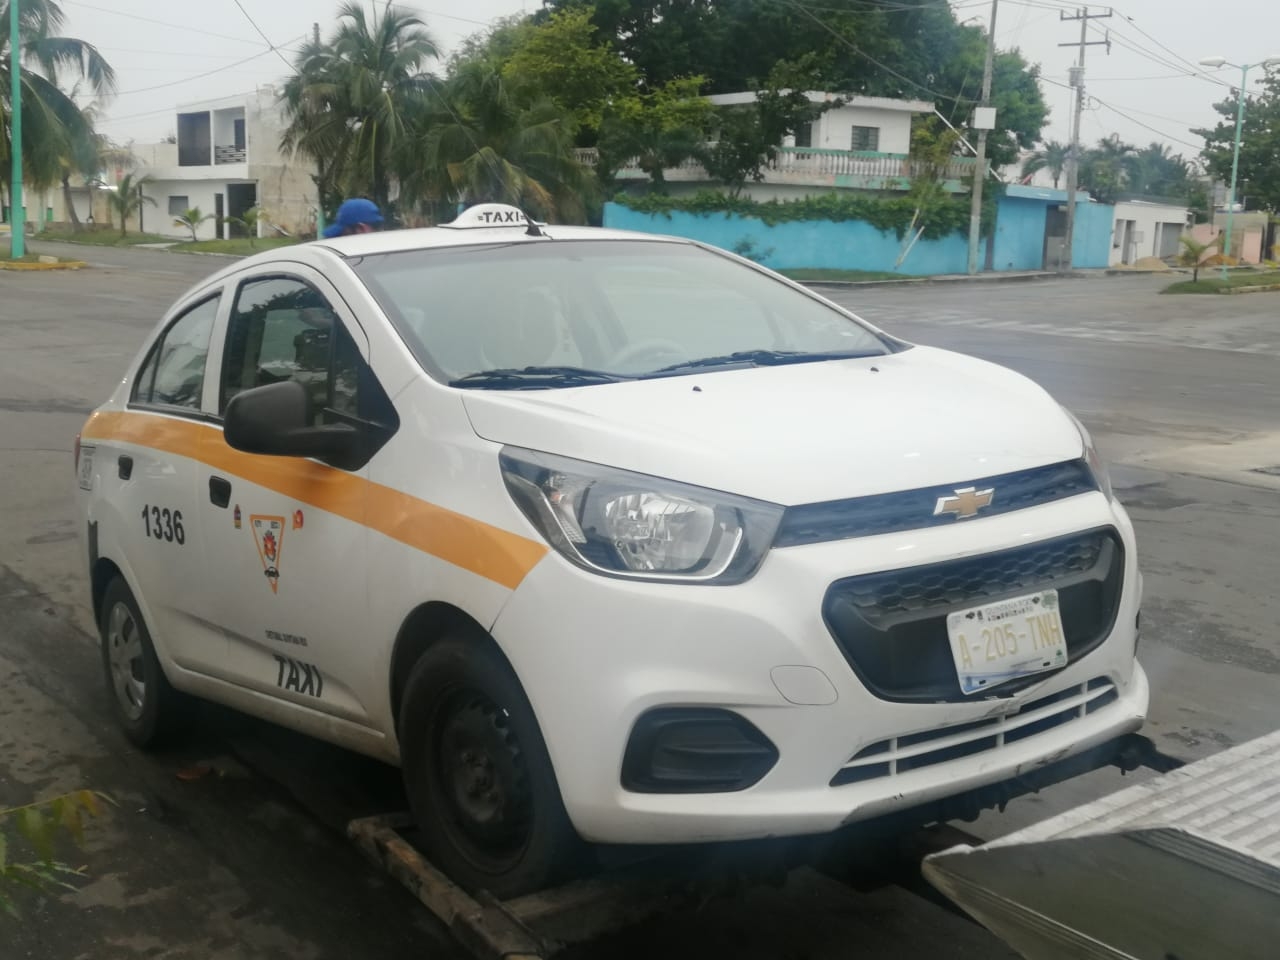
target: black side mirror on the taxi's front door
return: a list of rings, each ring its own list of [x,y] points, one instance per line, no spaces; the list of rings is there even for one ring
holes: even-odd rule
[[[266,384],[232,397],[223,419],[227,444],[269,457],[315,457],[335,466],[356,460],[361,433],[348,424],[311,422],[311,401],[297,380]]]

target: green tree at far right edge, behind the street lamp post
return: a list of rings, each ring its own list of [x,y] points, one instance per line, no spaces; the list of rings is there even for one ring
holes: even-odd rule
[[[1193,133],[1204,138],[1202,156],[1208,173],[1229,183],[1231,152],[1235,142],[1236,100],[1233,95],[1213,104],[1222,118],[1211,129]],[[1240,169],[1236,200],[1253,210],[1280,211],[1280,72],[1268,70],[1262,92],[1249,96],[1244,105],[1244,128],[1240,136]]]

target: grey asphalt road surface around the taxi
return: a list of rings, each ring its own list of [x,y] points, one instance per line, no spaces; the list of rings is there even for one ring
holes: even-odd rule
[[[40,244],[36,244],[37,248]],[[67,250],[56,252],[65,253]],[[78,273],[0,273],[0,806],[93,787],[77,892],[0,916],[8,957],[365,960],[456,955],[342,836],[398,801],[394,772],[225,712],[143,755],[108,721],[72,511],[72,439],[165,306],[221,260],[77,248]],[[911,340],[1044,384],[1117,461],[1147,576],[1147,732],[1183,756],[1280,727],[1277,301],[1160,297],[1160,278],[828,292]],[[1015,803],[1006,832],[1121,785]],[[804,876],[580,951],[582,957],[1010,956],[896,888]]]

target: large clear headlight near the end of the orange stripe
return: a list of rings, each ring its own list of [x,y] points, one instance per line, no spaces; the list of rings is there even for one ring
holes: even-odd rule
[[[502,476],[547,541],[584,570],[634,580],[740,584],[768,553],[782,507],[508,447]]]

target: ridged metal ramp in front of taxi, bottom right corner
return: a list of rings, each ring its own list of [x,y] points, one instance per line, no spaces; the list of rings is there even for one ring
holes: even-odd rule
[[[1280,731],[923,872],[1028,960],[1280,956]]]

